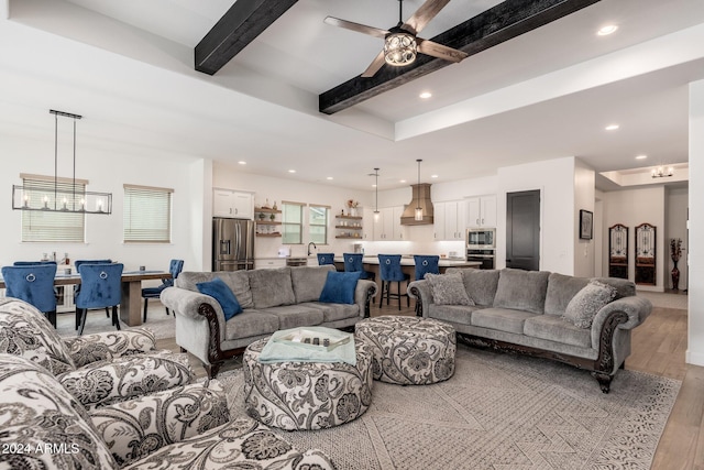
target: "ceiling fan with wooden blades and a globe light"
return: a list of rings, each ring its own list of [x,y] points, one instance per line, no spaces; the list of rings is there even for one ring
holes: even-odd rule
[[[442,10],[450,0],[427,0],[418,10],[404,23],[404,0],[398,0],[398,24],[391,30],[367,26],[365,24],[353,23],[352,21],[340,20],[339,18],[327,17],[324,22],[333,26],[344,28],[384,40],[384,50],[362,73],[362,77],[373,77],[384,64],[396,67],[413,64],[416,54],[421,53],[446,61],[458,63],[465,58],[468,54],[432,41],[418,37],[417,34]]]

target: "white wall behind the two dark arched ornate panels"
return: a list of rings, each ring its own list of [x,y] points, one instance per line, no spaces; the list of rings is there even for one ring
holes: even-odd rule
[[[616,223],[628,227],[628,278],[630,281],[636,278],[636,226],[647,222],[656,227],[656,285],[638,285],[642,291],[662,292],[666,287],[663,273],[669,273],[666,271],[670,248],[664,221],[664,186],[604,193],[604,240],[608,240],[609,227]],[[608,251],[608,243],[604,244],[604,250]]]

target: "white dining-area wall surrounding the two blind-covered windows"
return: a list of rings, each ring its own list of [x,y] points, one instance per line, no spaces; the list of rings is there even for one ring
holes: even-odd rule
[[[80,124],[78,136],[80,138]],[[80,143],[80,139],[78,142]],[[59,146],[58,176],[72,176],[72,145]],[[112,193],[112,215],[86,216],[85,243],[23,243],[22,211],[11,208],[11,188],[12,185],[22,184],[20,173],[54,175],[54,135],[52,133],[42,141],[0,135],[0,188],[6,196],[4,204],[0,204],[0,218],[3,221],[3,230],[0,231],[0,265],[12,264],[16,260],[38,260],[42,253],[55,251],[57,256],[67,252],[72,260],[110,258],[124,263],[125,270],[135,270],[140,265],[165,270],[172,258],[183,259],[187,270],[198,271],[202,267],[202,239],[198,237],[205,204],[202,182],[206,171],[202,160],[111,154],[77,144],[76,177],[89,181],[88,190]],[[209,177],[208,174],[207,178]],[[172,243],[122,242],[125,183],[174,189]],[[194,230],[194,227],[197,229]]]

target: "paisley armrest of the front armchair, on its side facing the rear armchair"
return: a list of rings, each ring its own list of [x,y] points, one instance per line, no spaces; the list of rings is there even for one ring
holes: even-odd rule
[[[228,423],[230,413],[220,382],[211,380],[103,406],[90,419],[123,467]]]

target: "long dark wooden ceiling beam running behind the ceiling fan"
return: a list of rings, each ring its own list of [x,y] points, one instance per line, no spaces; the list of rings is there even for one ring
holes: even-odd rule
[[[474,55],[598,1],[506,0],[431,41]],[[318,109],[333,114],[451,64],[419,54],[416,62],[405,67],[384,65],[373,77],[354,77],[319,95]]]

